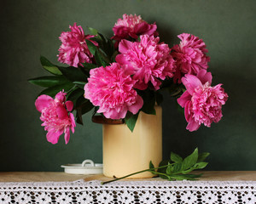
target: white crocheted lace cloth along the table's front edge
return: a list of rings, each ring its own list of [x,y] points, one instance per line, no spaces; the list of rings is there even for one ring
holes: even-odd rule
[[[0,183],[0,203],[256,203],[256,181]]]

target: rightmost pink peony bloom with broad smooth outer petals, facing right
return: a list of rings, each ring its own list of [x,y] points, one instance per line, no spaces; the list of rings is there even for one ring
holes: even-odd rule
[[[187,129],[192,132],[201,124],[211,127],[212,122],[219,122],[222,105],[228,99],[222,84],[211,87],[212,74],[206,70],[199,71],[197,77],[186,74],[182,82],[187,90],[177,99],[177,103],[185,108],[185,118],[189,122]]]

